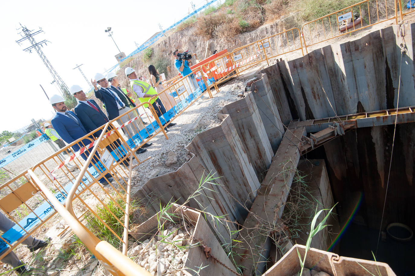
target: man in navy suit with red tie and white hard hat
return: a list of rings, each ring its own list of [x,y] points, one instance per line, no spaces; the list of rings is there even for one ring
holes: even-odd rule
[[[109,121],[107,116],[100,109],[99,105],[95,103],[95,100],[86,99],[86,95],[83,92],[81,86],[72,85],[71,88],[69,88],[69,91],[78,100],[78,105],[76,105],[75,107],[75,114],[76,116],[78,116],[78,119],[81,120],[81,123],[83,127],[85,127],[85,130],[87,132],[92,132],[98,127],[102,127]],[[111,125],[108,127],[108,129],[112,129]],[[93,135],[95,136],[95,138],[98,138],[100,137],[101,132],[102,132],[101,130],[98,130]],[[121,142],[118,140],[115,140],[113,142],[112,147],[107,146],[106,148],[111,152],[111,151],[114,151],[115,148],[119,149],[120,147],[121,147]],[[115,152],[117,152],[116,155],[118,158],[122,158],[126,155],[126,152],[123,150],[115,151]],[[128,166],[129,165],[128,161],[129,161],[129,157],[127,157],[126,160],[122,161],[122,164],[124,164],[125,166]]]

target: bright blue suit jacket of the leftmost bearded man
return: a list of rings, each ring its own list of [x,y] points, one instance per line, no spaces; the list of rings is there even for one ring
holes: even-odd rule
[[[88,131],[86,131],[85,127],[83,127],[82,122],[75,115],[75,113],[73,113],[72,111],[67,112],[73,115],[78,120],[78,123],[68,118],[66,115],[62,115],[60,113],[56,113],[51,123],[56,132],[58,132],[59,136],[66,143],[71,144],[76,139],[79,139],[88,134]],[[86,146],[90,144],[91,141],[89,139],[83,139],[82,142]],[[83,147],[83,144],[79,142],[78,144],[74,144],[72,148],[75,151],[78,151],[81,147]]]

